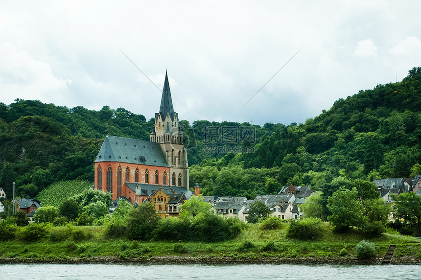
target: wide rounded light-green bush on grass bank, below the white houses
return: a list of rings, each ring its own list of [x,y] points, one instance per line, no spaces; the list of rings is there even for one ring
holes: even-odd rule
[[[286,236],[301,240],[317,239],[323,234],[323,223],[318,218],[291,220]]]

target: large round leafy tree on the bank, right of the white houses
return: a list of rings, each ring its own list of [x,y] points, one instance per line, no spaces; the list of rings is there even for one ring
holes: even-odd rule
[[[352,190],[340,187],[327,199],[327,208],[332,213],[327,220],[339,232],[348,231],[353,226],[359,228],[367,221],[355,187]]]

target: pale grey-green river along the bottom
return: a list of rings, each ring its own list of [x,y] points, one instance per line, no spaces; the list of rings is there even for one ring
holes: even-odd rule
[[[421,279],[420,265],[0,264],[0,279]]]

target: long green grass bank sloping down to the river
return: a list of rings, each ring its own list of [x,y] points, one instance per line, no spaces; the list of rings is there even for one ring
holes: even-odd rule
[[[419,239],[393,231],[366,238],[356,229],[335,233],[324,223],[319,239],[303,241],[287,238],[288,226],[263,231],[248,224],[235,239],[213,243],[108,239],[103,227],[49,227],[41,240],[0,242],[0,262],[357,262],[354,248],[363,239],[374,242],[377,251],[364,263],[380,261],[390,244],[397,245],[393,262],[421,262]]]

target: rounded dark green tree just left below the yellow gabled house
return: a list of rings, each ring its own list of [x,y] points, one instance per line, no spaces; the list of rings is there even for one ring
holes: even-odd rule
[[[150,203],[142,203],[138,208],[130,211],[127,222],[129,238],[145,240],[152,237],[152,231],[157,227],[161,217],[157,214],[155,206]]]

